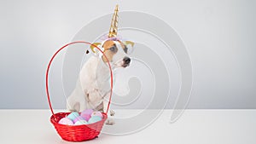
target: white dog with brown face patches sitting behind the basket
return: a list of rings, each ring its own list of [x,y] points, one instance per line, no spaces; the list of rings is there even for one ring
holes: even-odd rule
[[[94,43],[102,49],[102,53],[91,46],[91,51],[95,55],[84,63],[76,88],[67,98],[67,110],[69,112],[83,112],[85,109],[94,109],[106,112],[110,95],[110,72],[108,61],[114,72],[117,68],[130,66],[131,58],[127,54],[128,49],[132,49],[134,43],[130,41],[121,42],[115,38],[108,38],[102,43]],[[114,112],[110,111],[110,116]],[[113,118],[107,119],[106,124],[114,124]]]

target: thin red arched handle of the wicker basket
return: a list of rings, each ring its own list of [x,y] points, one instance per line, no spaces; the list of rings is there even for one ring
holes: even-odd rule
[[[51,106],[51,102],[50,102],[50,99],[49,99],[49,89],[48,89],[48,75],[49,75],[49,67],[52,63],[52,61],[55,59],[55,56],[64,48],[67,48],[67,46],[69,45],[72,45],[74,43],[85,43],[85,44],[90,44],[92,46],[94,46],[96,49],[98,49],[102,55],[108,60],[108,57],[103,53],[102,49],[98,48],[95,44],[92,44],[92,43],[88,43],[88,42],[84,42],[84,41],[76,41],[76,42],[72,42],[72,43],[67,43],[66,45],[64,45],[63,47],[61,47],[61,49],[58,49],[56,52],[55,52],[55,55],[53,55],[51,57],[51,59],[49,60],[49,64],[47,66],[47,70],[46,70],[46,95],[47,95],[47,99],[48,99],[48,103],[49,103],[49,109],[50,109],[50,112],[52,113],[52,115],[54,116],[55,118],[55,113],[53,112],[53,108]],[[113,72],[112,72],[112,68],[110,66],[110,63],[109,63],[109,60],[107,61],[108,62],[108,67],[109,67],[109,72],[110,72],[110,86],[111,86],[111,89],[110,89],[110,95],[109,95],[109,101],[108,101],[108,108],[107,108],[107,112],[108,113],[108,109],[109,109],[109,105],[110,105],[110,101],[111,101],[111,96],[113,94]],[[55,118],[56,119],[56,118]]]

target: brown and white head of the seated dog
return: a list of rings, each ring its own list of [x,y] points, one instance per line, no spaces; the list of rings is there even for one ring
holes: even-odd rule
[[[95,48],[95,46],[102,49],[104,55]],[[91,49],[96,55],[100,55],[104,62],[109,62],[114,67],[126,67],[131,63],[131,58],[128,51],[132,49],[134,43],[131,41],[121,42],[120,40],[107,40],[103,43],[93,43]]]

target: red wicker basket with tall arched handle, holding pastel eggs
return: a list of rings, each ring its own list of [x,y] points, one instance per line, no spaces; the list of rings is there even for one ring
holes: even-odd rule
[[[86,44],[93,45],[91,43],[87,43],[87,42],[83,42],[83,41],[67,43],[66,45],[61,47],[61,49],[56,51],[55,55],[57,55],[62,49],[66,48],[68,45],[71,45],[74,43],[86,43]],[[102,55],[107,58],[107,56],[104,55],[104,53],[101,49],[99,49],[96,45],[93,45],[93,46],[96,47],[96,49],[98,49],[102,53]],[[102,115],[103,115],[102,120],[99,122],[96,122],[94,124],[64,125],[64,124],[59,124],[58,122],[61,120],[61,118],[67,117],[67,115],[70,112],[54,113],[53,108],[51,106],[50,99],[49,99],[48,74],[49,74],[49,67],[51,65],[51,62],[54,60],[55,55],[53,55],[51,57],[51,59],[49,60],[49,64],[48,64],[47,71],[46,71],[46,94],[47,94],[47,98],[48,98],[48,102],[49,102],[49,109],[52,113],[52,116],[50,117],[50,122],[51,122],[51,124],[54,124],[55,130],[57,131],[57,133],[61,136],[61,138],[63,140],[66,140],[66,141],[88,141],[88,140],[94,139],[97,137],[97,135],[100,134],[100,132],[102,130],[102,126],[103,126],[104,122],[106,121],[106,119],[108,118],[107,113],[108,113],[108,108],[110,105],[112,90],[113,90],[113,73],[112,73],[111,66],[108,62],[110,76],[111,76],[110,77],[111,78],[111,80],[110,80],[111,90],[110,90],[107,112],[102,112]]]

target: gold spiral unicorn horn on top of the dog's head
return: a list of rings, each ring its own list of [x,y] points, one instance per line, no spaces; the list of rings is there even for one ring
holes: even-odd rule
[[[113,12],[113,17],[112,17],[112,21],[111,21],[111,26],[109,29],[109,33],[108,33],[108,37],[116,37],[117,36],[117,30],[118,30],[118,15],[119,13],[119,5],[117,4],[115,6],[114,12]]]

